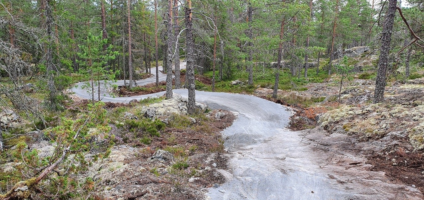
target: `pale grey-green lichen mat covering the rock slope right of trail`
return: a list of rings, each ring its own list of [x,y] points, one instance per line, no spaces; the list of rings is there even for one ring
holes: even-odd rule
[[[358,134],[360,138],[379,139],[390,132],[409,133],[410,143],[417,150],[424,148],[424,106],[369,104],[361,107],[343,106],[320,117],[319,123],[331,132]]]

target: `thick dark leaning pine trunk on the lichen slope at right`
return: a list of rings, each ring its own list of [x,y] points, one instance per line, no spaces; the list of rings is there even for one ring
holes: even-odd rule
[[[381,36],[380,56],[377,64],[378,71],[377,79],[375,82],[374,104],[381,103],[384,98],[384,89],[386,86],[386,70],[389,62],[388,55],[390,52],[393,22],[396,15],[396,3],[397,0],[389,0],[388,2],[388,10],[386,13],[386,19],[384,21]]]

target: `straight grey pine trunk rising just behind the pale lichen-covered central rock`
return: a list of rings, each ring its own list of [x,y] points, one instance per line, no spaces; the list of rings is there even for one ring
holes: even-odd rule
[[[172,34],[172,5],[173,0],[168,0],[168,19],[167,19],[167,53],[166,53],[166,99],[172,99],[172,41],[173,41],[173,34]]]

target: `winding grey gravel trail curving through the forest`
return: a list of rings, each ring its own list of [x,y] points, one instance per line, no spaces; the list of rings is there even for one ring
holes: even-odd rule
[[[182,62],[181,67],[185,67]],[[153,68],[152,68],[153,70]],[[166,79],[159,74],[159,80]],[[138,81],[138,85],[155,82],[155,77]],[[84,83],[78,83],[78,86]],[[118,81],[117,85],[123,85]],[[76,95],[91,98],[81,87]],[[165,92],[113,98],[106,94],[102,101],[128,102]],[[173,90],[187,96],[187,90]],[[367,165],[352,167],[364,159],[337,149],[317,148],[308,138],[322,133],[291,132],[287,128],[291,112],[287,107],[256,96],[196,91],[196,101],[214,109],[229,110],[238,115],[222,134],[231,152],[231,170],[218,170],[226,183],[210,188],[211,200],[421,200],[421,193],[410,186],[390,183],[382,172],[370,172]],[[322,134],[325,135],[325,134]],[[342,144],[343,145],[343,144]]]

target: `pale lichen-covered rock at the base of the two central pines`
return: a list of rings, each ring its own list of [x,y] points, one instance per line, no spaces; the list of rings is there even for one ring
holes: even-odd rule
[[[172,99],[167,99],[160,103],[142,107],[141,114],[148,118],[169,116],[173,114],[187,115],[187,102],[187,98],[174,94]],[[196,102],[196,109],[198,112],[205,112],[206,108],[206,104]]]

